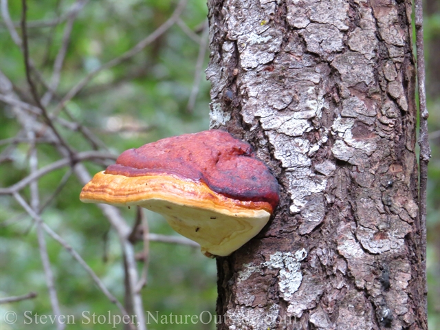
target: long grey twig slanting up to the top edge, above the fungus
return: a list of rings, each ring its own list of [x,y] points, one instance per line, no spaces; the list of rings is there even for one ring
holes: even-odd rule
[[[177,8],[173,12],[173,15],[162,25],[157,28],[152,34],[147,36],[144,40],[140,41],[140,43],[137,43],[135,47],[131,48],[131,50],[125,52],[121,56],[118,56],[116,58],[113,58],[113,60],[105,63],[104,65],[98,67],[94,71],[90,72],[81,80],[78,84],[76,84],[70,91],[64,96],[64,98],[59,102],[58,106],[54,110],[53,114],[56,115],[65,107],[65,104],[69,102],[69,100],[72,100],[78,92],[85,87],[89,83],[89,81],[94,78],[98,73],[100,73],[104,69],[109,69],[111,67],[114,67],[115,65],[119,65],[120,63],[128,60],[129,58],[135,56],[135,54],[139,53],[141,50],[143,50],[147,45],[153,43],[159,36],[164,34],[171,26],[174,25],[174,23],[179,19],[181,12],[184,11],[184,8],[186,6],[187,0],[181,0],[179,2],[179,5],[177,5]]]

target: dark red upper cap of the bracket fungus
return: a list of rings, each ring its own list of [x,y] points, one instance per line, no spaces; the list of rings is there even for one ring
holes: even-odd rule
[[[205,183],[214,192],[241,201],[278,205],[278,182],[256,159],[252,146],[212,129],[168,137],[124,151],[105,174],[139,177],[177,175]]]

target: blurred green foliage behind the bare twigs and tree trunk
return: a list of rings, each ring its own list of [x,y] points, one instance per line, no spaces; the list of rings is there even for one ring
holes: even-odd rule
[[[66,12],[72,0],[30,0],[29,21],[49,21]],[[61,85],[57,97],[64,96],[72,86],[96,67],[131,49],[153,32],[175,9],[174,1],[90,1],[74,23],[72,39],[63,65]],[[14,22],[21,17],[21,1],[10,0],[10,14]],[[192,30],[206,20],[206,1],[191,0],[181,19]],[[426,42],[438,41],[439,12],[426,19]],[[56,27],[29,29],[30,54],[46,80],[52,74],[54,58],[61,45],[64,24]],[[200,29],[199,29],[200,30]],[[200,36],[201,34],[199,34]],[[209,83],[203,78],[195,108],[188,112],[199,45],[177,25],[159,37],[142,52],[111,69],[104,70],[67,104],[74,119],[89,127],[115,154],[159,140],[170,135],[192,133],[208,129]],[[208,53],[208,52],[207,52]],[[428,60],[430,54],[427,48]],[[208,54],[203,68],[208,63]],[[429,62],[428,62],[429,63]],[[23,56],[14,45],[5,25],[0,25],[0,67],[19,89],[26,88]],[[428,73],[430,72],[428,65]],[[429,79],[439,79],[429,76]],[[430,131],[440,130],[440,93],[428,95]],[[0,103],[0,140],[14,137],[20,126],[5,104]],[[61,116],[66,115],[64,113]],[[63,136],[79,151],[90,149],[80,133],[63,130]],[[428,283],[430,329],[440,329],[439,289],[439,205],[440,205],[440,148],[439,137],[431,140],[433,158],[430,162],[428,191]],[[0,145],[0,152],[6,145]],[[28,144],[19,144],[10,162],[1,164],[1,186],[11,186],[28,173]],[[41,144],[38,149],[39,166],[59,159],[52,146]],[[87,164],[91,173],[102,166]],[[49,199],[56,190],[66,169],[56,170],[39,182],[41,199]],[[71,176],[60,194],[45,208],[42,217],[50,227],[72,245],[102,278],[109,290],[120,300],[124,296],[122,256],[118,238],[107,219],[93,205],[80,203],[82,186]],[[29,196],[29,191],[24,194]],[[0,198],[0,295],[14,296],[30,291],[39,296],[20,303],[0,305],[0,329],[54,329],[52,325],[24,325],[25,311],[32,315],[51,314],[50,300],[41,267],[41,260],[32,219],[11,197]],[[124,217],[135,218],[135,210],[123,210]],[[151,232],[175,234],[157,214],[148,212]],[[74,315],[76,325],[67,329],[109,329],[108,325],[85,325],[83,311],[96,315],[118,315],[109,302],[72,257],[47,238],[56,287],[63,314]],[[142,250],[142,244],[137,245]],[[143,290],[144,307],[155,316],[199,315],[209,311],[214,315],[216,289],[215,261],[199,251],[182,245],[151,242],[148,285]],[[140,265],[141,267],[142,265]],[[438,295],[438,296],[437,296]],[[15,325],[3,322],[5,311],[15,311],[19,320]],[[208,314],[205,314],[208,316]],[[168,318],[169,320],[169,318]],[[87,320],[86,320],[87,321]],[[120,325],[116,329],[121,329]],[[214,324],[203,325],[148,325],[148,329],[214,329]]]

